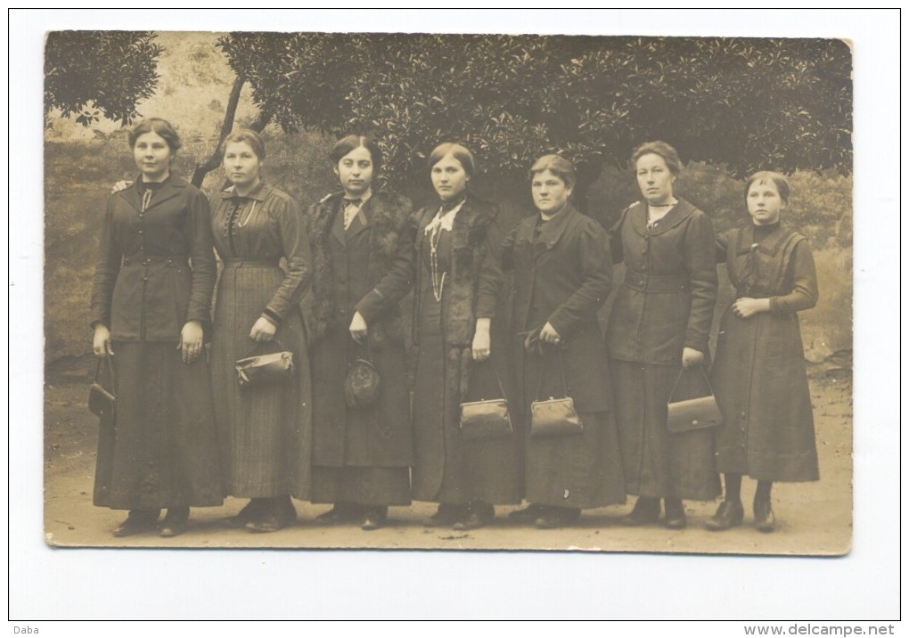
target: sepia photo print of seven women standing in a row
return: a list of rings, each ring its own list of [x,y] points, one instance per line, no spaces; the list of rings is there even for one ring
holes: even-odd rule
[[[134,24],[41,45],[48,564],[852,560],[848,31]]]

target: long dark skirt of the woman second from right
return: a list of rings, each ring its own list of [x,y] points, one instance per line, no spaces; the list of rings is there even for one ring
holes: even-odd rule
[[[710,428],[670,434],[669,394],[679,374],[674,365],[612,360],[615,418],[622,446],[625,488],[640,496],[707,501],[720,493]],[[684,374],[674,400],[709,394],[697,371]]]

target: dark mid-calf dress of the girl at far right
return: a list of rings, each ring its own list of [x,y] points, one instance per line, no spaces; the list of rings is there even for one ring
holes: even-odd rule
[[[742,319],[727,308],[713,378],[724,425],[716,432],[720,472],[764,481],[816,481],[814,418],[799,329],[817,303],[807,240],[784,227],[754,243],[754,226],[717,240],[736,298],[770,299],[770,312]]]

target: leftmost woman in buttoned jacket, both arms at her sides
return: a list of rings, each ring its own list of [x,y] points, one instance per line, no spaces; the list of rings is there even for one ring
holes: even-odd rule
[[[113,357],[116,412],[99,434],[95,504],[129,510],[116,536],[185,529],[220,505],[204,326],[215,254],[205,195],[171,174],[180,138],[152,118],[129,135],[141,174],[107,203],[92,290],[94,350]]]

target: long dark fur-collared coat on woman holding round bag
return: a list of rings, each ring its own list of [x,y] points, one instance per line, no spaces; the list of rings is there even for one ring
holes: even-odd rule
[[[406,467],[414,450],[400,301],[414,283],[413,208],[402,195],[377,192],[345,231],[342,199],[332,194],[306,214],[315,269],[313,464]],[[374,406],[349,410],[348,364],[367,354],[348,330],[356,311],[382,384]]]

